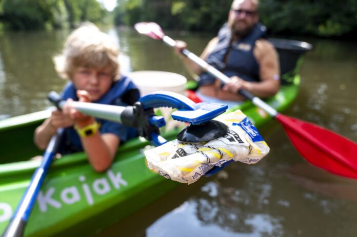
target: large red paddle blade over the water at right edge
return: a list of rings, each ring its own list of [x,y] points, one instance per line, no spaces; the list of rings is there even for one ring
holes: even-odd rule
[[[326,128],[278,114],[297,151],[311,164],[336,175],[357,179],[357,144]]]

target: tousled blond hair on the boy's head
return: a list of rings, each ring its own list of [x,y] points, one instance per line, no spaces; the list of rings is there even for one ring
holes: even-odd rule
[[[53,61],[57,73],[63,78],[72,79],[78,67],[103,69],[110,66],[113,80],[117,80],[119,52],[109,35],[94,24],[85,23],[68,36],[62,54],[53,57]]]

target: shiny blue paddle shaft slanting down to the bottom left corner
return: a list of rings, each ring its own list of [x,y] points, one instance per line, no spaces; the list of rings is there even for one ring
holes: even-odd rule
[[[56,154],[58,145],[61,142],[63,128],[57,130],[57,134],[53,135],[48,144],[43,160],[40,166],[37,167],[33,174],[30,184],[27,187],[24,196],[18,204],[13,217],[8,224],[2,237],[23,236],[26,224],[28,222],[32,207],[36,201],[37,193],[46,177],[47,171],[52,163],[53,156]]]

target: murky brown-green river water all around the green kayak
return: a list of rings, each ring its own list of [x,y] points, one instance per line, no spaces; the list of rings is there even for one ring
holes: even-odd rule
[[[122,70],[183,74],[160,41],[128,29],[108,30],[121,47]],[[0,119],[49,106],[49,91],[66,83],[51,57],[68,31],[0,32]],[[213,35],[166,32],[200,54]],[[357,141],[357,45],[304,39],[299,96],[285,114]],[[280,124],[260,130],[271,148],[255,165],[232,164],[219,175],[182,185],[99,236],[357,236],[357,181],[308,165]],[[357,154],[356,154],[357,159]]]

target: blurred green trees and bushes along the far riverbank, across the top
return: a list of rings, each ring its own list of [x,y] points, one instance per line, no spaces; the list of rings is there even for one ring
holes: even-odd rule
[[[127,26],[155,21],[165,29],[217,32],[230,4],[231,0],[117,0],[117,7],[108,12],[96,0],[0,0],[0,22],[24,30],[73,28],[85,20]],[[357,33],[355,0],[261,0],[260,16],[276,35],[350,39]]]

